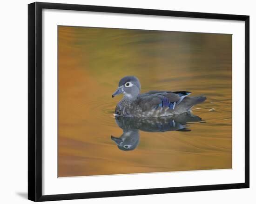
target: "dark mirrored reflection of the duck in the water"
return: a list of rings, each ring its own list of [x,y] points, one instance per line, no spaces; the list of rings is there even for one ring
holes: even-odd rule
[[[144,132],[190,131],[189,122],[199,122],[202,119],[186,112],[180,115],[162,118],[128,118],[115,116],[117,125],[123,130],[123,134],[117,138],[111,136],[117,147],[123,151],[134,150],[140,141],[139,130]]]

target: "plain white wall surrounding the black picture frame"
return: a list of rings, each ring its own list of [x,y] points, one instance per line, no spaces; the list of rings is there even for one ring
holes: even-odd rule
[[[44,0],[41,0],[44,1]],[[30,203],[27,200],[27,4],[29,0],[2,1],[0,6],[0,203]],[[250,15],[250,189],[173,193],[161,195],[57,201],[67,204],[256,203],[256,151],[253,128],[256,114],[255,55],[256,6],[253,0],[47,0],[115,7],[139,7],[177,11]],[[53,203],[53,202],[49,202]]]

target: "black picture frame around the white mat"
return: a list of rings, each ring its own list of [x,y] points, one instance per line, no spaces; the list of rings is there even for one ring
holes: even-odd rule
[[[155,16],[190,17],[245,22],[245,182],[125,191],[104,191],[42,195],[42,9],[128,13]],[[103,7],[35,2],[28,5],[28,199],[53,201],[96,197],[134,196],[188,191],[249,188],[249,16],[197,13],[141,8]]]

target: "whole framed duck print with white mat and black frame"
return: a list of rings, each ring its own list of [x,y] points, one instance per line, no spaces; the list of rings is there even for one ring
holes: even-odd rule
[[[249,16],[28,5],[28,199],[249,188]]]

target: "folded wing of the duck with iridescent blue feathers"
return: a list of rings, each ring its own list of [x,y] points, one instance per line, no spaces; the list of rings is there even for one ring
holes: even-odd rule
[[[139,96],[138,105],[142,111],[149,111],[152,108],[168,107],[173,110],[190,92],[179,91],[150,91]]]

